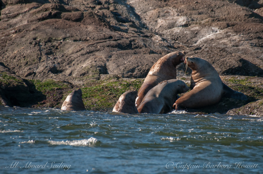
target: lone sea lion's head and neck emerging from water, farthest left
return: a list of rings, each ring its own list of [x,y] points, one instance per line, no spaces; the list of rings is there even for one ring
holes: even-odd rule
[[[82,101],[81,89],[73,90],[63,102],[61,110],[67,111],[83,111],[85,110],[84,103]]]

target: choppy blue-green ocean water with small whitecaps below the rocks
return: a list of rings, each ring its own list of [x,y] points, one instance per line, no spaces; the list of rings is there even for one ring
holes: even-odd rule
[[[0,173],[262,173],[263,118],[0,107]]]

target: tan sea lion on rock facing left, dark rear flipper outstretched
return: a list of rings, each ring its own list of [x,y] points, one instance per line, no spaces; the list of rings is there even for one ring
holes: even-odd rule
[[[247,100],[246,95],[225,85],[215,68],[205,59],[186,57],[184,63],[192,70],[191,90],[175,101],[173,108],[201,108],[219,103],[222,97]]]

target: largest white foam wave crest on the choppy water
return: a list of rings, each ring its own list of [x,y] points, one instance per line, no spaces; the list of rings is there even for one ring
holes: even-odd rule
[[[53,141],[48,140],[48,142],[52,145],[70,145],[70,146],[89,146],[92,147],[96,143],[98,143],[98,139],[90,137],[89,139],[83,139],[83,140],[66,140],[66,141]]]

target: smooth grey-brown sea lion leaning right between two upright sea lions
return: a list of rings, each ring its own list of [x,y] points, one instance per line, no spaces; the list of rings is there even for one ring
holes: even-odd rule
[[[162,81],[144,96],[138,111],[139,113],[168,113],[177,99],[177,94],[185,93],[189,89],[181,80]]]

